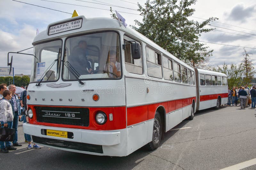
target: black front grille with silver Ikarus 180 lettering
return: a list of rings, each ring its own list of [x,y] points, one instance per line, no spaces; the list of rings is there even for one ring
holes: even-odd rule
[[[37,122],[89,126],[88,108],[35,106],[35,109]]]

